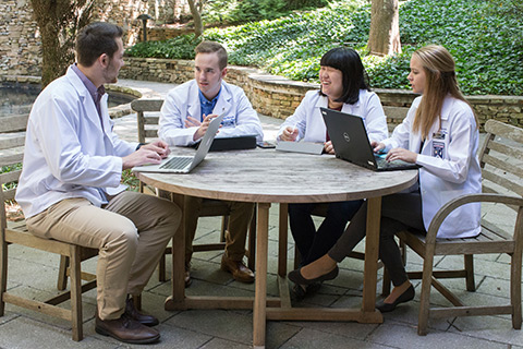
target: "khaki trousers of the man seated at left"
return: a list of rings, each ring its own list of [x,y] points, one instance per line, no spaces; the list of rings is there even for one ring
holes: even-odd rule
[[[119,318],[126,294],[141,294],[181,221],[167,200],[123,192],[104,208],[66,198],[27,219],[35,236],[98,249],[97,305],[101,320]]]

